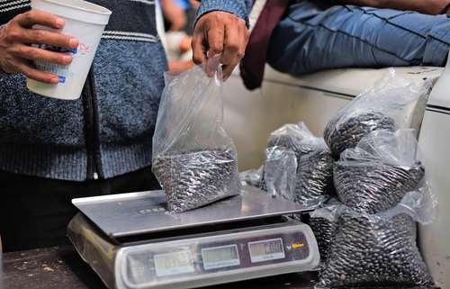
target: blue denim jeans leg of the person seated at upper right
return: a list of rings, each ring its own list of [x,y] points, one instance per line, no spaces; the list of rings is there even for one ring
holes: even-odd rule
[[[450,17],[333,5],[291,5],[275,29],[268,62],[301,75],[329,68],[444,66]]]

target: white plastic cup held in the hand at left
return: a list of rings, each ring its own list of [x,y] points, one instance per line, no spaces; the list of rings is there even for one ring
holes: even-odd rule
[[[31,8],[63,18],[65,20],[64,28],[58,32],[75,37],[79,40],[79,45],[78,48],[69,50],[35,44],[40,49],[70,53],[73,60],[67,66],[34,61],[36,68],[58,75],[59,83],[57,85],[45,84],[27,78],[28,89],[38,95],[58,99],[74,100],[79,98],[94,60],[95,51],[102,38],[104,27],[108,24],[112,12],[100,5],[82,0],[31,0]],[[33,28],[54,31],[40,25],[34,25]]]

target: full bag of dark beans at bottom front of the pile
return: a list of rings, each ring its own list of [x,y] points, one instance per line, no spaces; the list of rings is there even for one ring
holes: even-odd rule
[[[365,214],[341,206],[317,288],[418,285],[433,280],[416,243],[416,223],[406,211]]]

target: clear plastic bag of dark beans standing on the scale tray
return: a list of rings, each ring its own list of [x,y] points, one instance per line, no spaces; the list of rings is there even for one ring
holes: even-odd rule
[[[166,87],[153,137],[153,173],[166,192],[169,211],[185,212],[239,194],[238,159],[223,125],[219,59],[178,76]]]

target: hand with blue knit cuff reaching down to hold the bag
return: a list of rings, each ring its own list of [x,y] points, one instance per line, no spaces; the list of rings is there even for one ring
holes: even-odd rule
[[[193,32],[193,61],[203,63],[221,54],[227,79],[244,57],[248,10],[246,0],[202,0]]]

